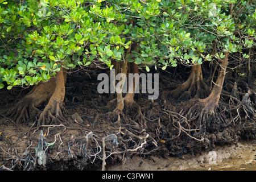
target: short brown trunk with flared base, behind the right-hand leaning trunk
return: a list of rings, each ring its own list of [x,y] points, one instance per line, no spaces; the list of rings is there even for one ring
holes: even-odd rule
[[[201,65],[193,66],[188,80],[171,91],[171,97],[179,98],[179,100],[204,98],[207,96],[208,88],[203,80]]]

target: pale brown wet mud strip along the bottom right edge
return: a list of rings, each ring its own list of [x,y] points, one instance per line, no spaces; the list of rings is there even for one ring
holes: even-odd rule
[[[121,164],[106,167],[109,171],[256,171],[256,140],[241,140],[237,144],[216,146],[213,151],[184,154],[166,159],[134,156]]]

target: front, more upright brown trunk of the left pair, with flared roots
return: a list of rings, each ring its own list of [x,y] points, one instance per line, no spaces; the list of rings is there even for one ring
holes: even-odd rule
[[[40,114],[38,126],[45,125],[48,121],[57,123],[63,120],[61,109],[65,97],[65,81],[67,80],[66,69],[61,68],[60,71],[56,73],[56,78],[52,80],[55,80],[56,82],[55,90],[49,99],[48,104]]]

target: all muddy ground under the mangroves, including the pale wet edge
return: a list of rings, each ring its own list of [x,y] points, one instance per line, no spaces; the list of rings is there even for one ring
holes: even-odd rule
[[[189,69],[180,75],[170,72],[159,72],[158,100],[151,102],[147,94],[135,94],[134,101],[141,106],[147,121],[145,129],[135,120],[136,111],[125,109],[118,117],[113,113],[116,104],[106,107],[115,96],[97,93],[96,71],[68,74],[63,123],[36,127],[38,117],[33,117],[27,125],[16,125],[11,118],[0,115],[1,166],[17,171],[254,170],[255,119],[245,120],[241,109],[241,119],[237,122],[230,122],[229,113],[224,113],[226,123],[212,122],[201,133],[185,132],[188,128],[184,123],[181,132],[175,117],[185,101],[172,99],[170,91],[175,84],[186,80]],[[238,83],[238,87],[241,96],[247,92],[243,82]],[[2,89],[0,113],[18,102],[30,89]],[[224,89],[231,92],[232,85],[226,81]],[[221,98],[218,111],[229,104],[227,98]],[[38,109],[43,110],[46,104]],[[236,114],[237,110],[234,110],[233,116]],[[250,142],[245,142],[247,140]],[[44,141],[44,146],[40,141]],[[209,164],[210,151],[216,151],[214,165]]]

